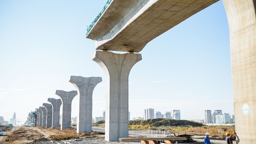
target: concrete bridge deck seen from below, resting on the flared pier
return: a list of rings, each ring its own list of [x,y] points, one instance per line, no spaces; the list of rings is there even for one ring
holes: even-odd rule
[[[114,0],[86,38],[96,49],[140,52],[145,45],[219,0]]]

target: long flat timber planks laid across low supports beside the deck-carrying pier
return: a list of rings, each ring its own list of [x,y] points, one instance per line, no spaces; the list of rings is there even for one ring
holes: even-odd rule
[[[145,138],[120,138],[119,141],[148,141],[148,140],[187,140],[186,137],[145,137]]]

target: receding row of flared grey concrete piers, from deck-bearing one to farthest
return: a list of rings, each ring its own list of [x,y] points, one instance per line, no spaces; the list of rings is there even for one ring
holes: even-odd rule
[[[128,138],[128,78],[132,66],[140,61],[141,54],[116,54],[107,50],[96,51],[92,58],[106,75],[106,118],[105,140],[117,141]],[[60,106],[62,106],[61,130],[71,127],[71,104],[79,97],[77,133],[92,132],[92,93],[101,77],[70,76],[76,91],[56,90],[60,99],[48,98],[48,102],[36,109],[37,126],[60,126]]]

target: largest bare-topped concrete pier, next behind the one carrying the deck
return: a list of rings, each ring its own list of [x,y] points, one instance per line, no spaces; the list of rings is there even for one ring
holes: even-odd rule
[[[71,82],[79,96],[79,116],[77,117],[77,133],[92,132],[92,92],[94,87],[102,81],[101,77],[84,78],[70,76]]]

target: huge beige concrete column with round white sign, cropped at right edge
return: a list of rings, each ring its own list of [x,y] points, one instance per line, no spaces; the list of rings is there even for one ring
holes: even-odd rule
[[[222,0],[230,34],[236,143],[255,143],[256,1]]]

